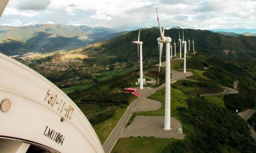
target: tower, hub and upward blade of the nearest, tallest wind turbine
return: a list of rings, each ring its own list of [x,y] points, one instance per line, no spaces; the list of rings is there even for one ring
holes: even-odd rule
[[[170,37],[164,37],[161,25],[158,18],[156,8],[157,21],[159,26],[160,37],[157,41],[163,42],[166,45],[166,67],[165,67],[165,106],[164,106],[164,130],[171,130],[171,67],[170,67],[170,43],[172,39]]]

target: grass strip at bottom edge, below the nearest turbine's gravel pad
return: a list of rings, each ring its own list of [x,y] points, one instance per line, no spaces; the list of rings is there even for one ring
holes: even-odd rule
[[[132,137],[118,139],[111,153],[161,153],[176,139],[154,137]]]

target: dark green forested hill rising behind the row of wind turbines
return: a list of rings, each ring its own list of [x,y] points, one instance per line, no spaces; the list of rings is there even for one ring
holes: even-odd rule
[[[172,42],[179,38],[180,29],[165,29],[165,36],[170,36]],[[131,31],[117,38],[102,43],[105,48],[103,52],[109,55],[122,56],[127,60],[137,59],[137,46],[131,41],[138,39],[139,31]],[[253,36],[226,36],[220,33],[213,33],[209,30],[184,29],[184,36],[188,42],[194,39],[195,49],[209,55],[217,55],[225,58],[255,60],[256,59],[256,37]],[[143,41],[143,58],[157,56],[157,38],[159,30],[155,27],[145,28],[140,32],[140,40]],[[192,46],[192,43],[190,44]],[[190,46],[190,48],[191,48]],[[164,47],[165,48],[165,47]],[[178,49],[176,47],[176,49]],[[164,49],[165,50],[165,49]],[[227,52],[225,52],[227,50]],[[164,51],[165,53],[165,51]]]

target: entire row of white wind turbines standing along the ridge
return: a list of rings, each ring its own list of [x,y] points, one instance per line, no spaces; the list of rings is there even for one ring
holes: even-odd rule
[[[171,130],[171,66],[170,66],[171,60],[170,60],[170,57],[172,59],[172,45],[171,45],[172,39],[170,37],[164,36],[165,24],[164,24],[164,29],[162,31],[162,28],[161,28],[161,25],[159,22],[159,18],[158,18],[157,8],[156,8],[156,15],[157,15],[157,22],[158,22],[159,33],[160,33],[160,37],[157,38],[157,43],[158,43],[157,53],[159,52],[158,85],[159,85],[159,77],[160,77],[162,50],[163,50],[164,44],[166,44],[165,45],[165,47],[166,47],[166,56],[165,56],[166,66],[165,66],[164,130]],[[139,30],[138,41],[132,41],[132,43],[137,44],[137,47],[138,47],[138,62],[140,62],[140,89],[143,89],[143,65],[142,65],[142,44],[143,44],[143,42],[140,41],[140,30]],[[179,42],[178,42],[177,46],[179,46],[179,43],[180,43],[180,58],[181,58],[181,43],[182,43],[182,47],[184,48],[184,70],[183,70],[183,72],[186,73],[187,42],[186,42],[186,40],[184,41],[184,30],[183,30],[182,41],[180,39],[180,33],[179,33]],[[188,44],[189,44],[188,50],[190,50],[189,38],[188,38]],[[193,39],[192,39],[192,45],[193,45],[193,51],[194,51],[194,40]],[[173,46],[174,46],[174,56],[176,56],[175,40],[174,40]],[[140,56],[139,56],[139,50],[140,50]],[[171,55],[170,55],[170,53],[171,53]]]

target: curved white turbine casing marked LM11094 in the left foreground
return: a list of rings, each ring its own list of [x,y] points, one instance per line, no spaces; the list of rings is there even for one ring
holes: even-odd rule
[[[0,53],[0,80],[0,103],[11,101],[7,112],[0,109],[0,136],[61,153],[104,152],[76,104],[36,71]]]

